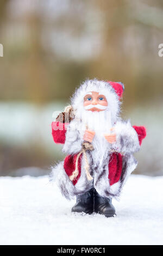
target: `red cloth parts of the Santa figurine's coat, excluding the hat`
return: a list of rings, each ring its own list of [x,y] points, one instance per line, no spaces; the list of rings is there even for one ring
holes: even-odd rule
[[[61,144],[65,143],[67,125],[68,123],[63,124],[63,123],[60,123],[59,121],[58,122],[55,121],[52,123],[52,135],[55,143],[61,143]],[[59,129],[59,126],[61,126],[62,129]],[[137,132],[139,143],[141,145],[142,139],[146,137],[146,129],[144,126],[133,126],[133,128]],[[74,155],[68,155],[65,157],[64,169],[68,176],[72,175],[75,169],[77,155],[78,154],[74,154]],[[78,161],[79,174],[77,176],[77,179],[73,180],[73,185],[76,185],[78,179],[80,178],[81,160],[82,160],[82,154],[80,155],[79,161]],[[122,173],[122,161],[123,161],[123,155],[121,155],[120,153],[111,154],[110,161],[109,161],[109,177],[108,177],[110,186],[115,184],[118,180],[120,180],[121,173]]]

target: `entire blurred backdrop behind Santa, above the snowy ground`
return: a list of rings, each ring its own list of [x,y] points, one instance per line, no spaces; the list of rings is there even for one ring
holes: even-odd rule
[[[85,78],[125,85],[123,118],[145,125],[135,173],[163,175],[163,2],[2,0],[0,175],[43,175],[64,158],[51,135]]]

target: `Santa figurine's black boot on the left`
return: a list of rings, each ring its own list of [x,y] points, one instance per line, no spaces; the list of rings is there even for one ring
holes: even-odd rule
[[[85,212],[92,214],[93,212],[93,189],[77,196],[77,203],[71,209],[72,212]]]

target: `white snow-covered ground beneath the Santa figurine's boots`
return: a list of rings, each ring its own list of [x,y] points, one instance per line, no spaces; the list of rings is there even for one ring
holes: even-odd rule
[[[116,217],[72,214],[47,176],[0,178],[1,245],[162,245],[163,176],[131,175]]]

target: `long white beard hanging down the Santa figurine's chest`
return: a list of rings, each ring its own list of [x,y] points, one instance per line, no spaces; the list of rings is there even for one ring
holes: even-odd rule
[[[109,109],[105,111],[92,112],[83,108],[78,108],[76,118],[82,120],[82,126],[78,127],[80,135],[83,137],[86,129],[95,131],[92,140],[94,150],[92,151],[93,162],[99,168],[103,167],[103,162],[108,156],[111,144],[106,141],[104,133],[110,133],[111,113]]]

